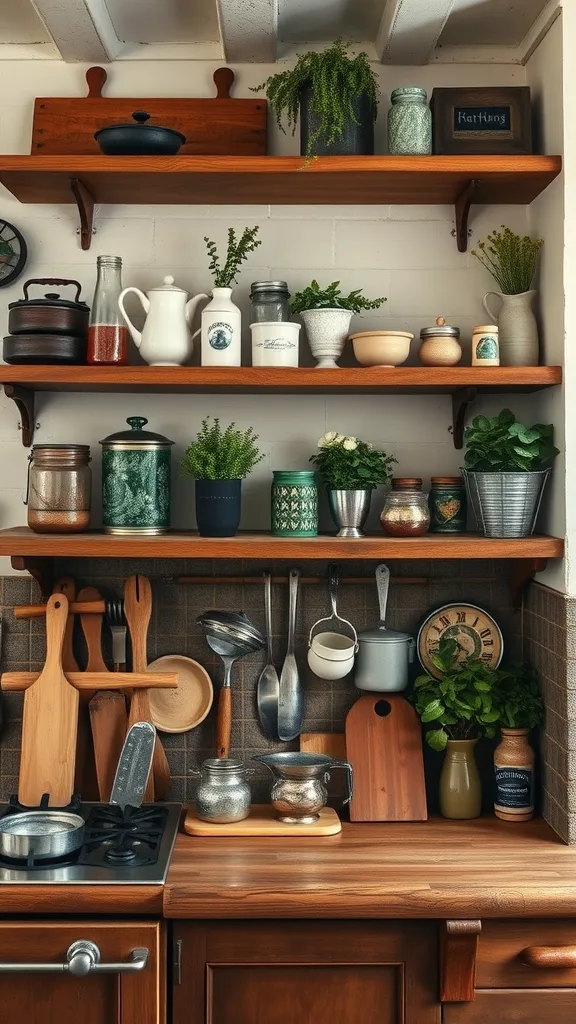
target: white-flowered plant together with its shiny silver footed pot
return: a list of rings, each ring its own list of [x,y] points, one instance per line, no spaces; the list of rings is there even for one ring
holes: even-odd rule
[[[392,477],[394,456],[358,437],[329,430],[310,460],[328,489],[330,514],[338,537],[362,537],[372,492]]]

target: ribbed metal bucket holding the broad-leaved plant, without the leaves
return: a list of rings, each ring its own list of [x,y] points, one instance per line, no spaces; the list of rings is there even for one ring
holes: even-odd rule
[[[548,473],[548,469],[537,473],[476,473],[462,469],[468,501],[484,536],[530,537]]]

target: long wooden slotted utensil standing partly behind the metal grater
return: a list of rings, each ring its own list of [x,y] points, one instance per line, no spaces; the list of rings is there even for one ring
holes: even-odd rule
[[[130,632],[132,648],[132,670],[146,672],[148,669],[147,639],[152,615],[152,587],[143,575],[128,577],[124,584],[124,614]],[[118,673],[115,673],[118,675]],[[150,700],[147,690],[134,690],[130,700],[128,726],[134,722],[151,722]],[[158,736],[154,746],[153,770],[150,774],[145,801],[156,797],[166,798],[172,780],[164,748]]]

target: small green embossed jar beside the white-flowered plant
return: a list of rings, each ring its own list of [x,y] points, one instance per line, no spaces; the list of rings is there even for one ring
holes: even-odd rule
[[[318,537],[316,473],[291,469],[274,471],[272,532],[275,537]]]

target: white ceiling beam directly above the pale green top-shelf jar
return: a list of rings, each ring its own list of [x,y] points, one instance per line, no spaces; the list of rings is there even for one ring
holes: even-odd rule
[[[455,0],[385,0],[376,36],[382,63],[425,65]]]

